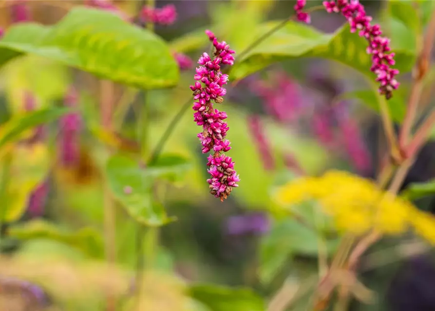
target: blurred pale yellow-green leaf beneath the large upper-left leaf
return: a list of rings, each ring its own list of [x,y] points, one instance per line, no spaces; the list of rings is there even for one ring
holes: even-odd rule
[[[67,67],[33,55],[9,62],[3,74],[9,107],[14,113],[25,111],[25,92],[35,97],[34,109],[46,108],[65,95],[70,82]]]

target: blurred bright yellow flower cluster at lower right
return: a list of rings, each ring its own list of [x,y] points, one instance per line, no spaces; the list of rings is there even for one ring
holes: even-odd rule
[[[435,242],[434,216],[351,173],[329,171],[321,177],[302,177],[276,193],[281,205],[297,205],[308,199],[317,200],[340,231],[362,234],[375,229],[395,235],[414,228],[417,234]]]

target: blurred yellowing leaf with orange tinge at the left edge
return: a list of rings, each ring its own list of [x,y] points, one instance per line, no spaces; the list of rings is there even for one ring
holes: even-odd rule
[[[17,145],[14,148],[10,177],[2,198],[4,221],[13,222],[22,216],[30,194],[44,180],[49,167],[48,149],[42,143]]]

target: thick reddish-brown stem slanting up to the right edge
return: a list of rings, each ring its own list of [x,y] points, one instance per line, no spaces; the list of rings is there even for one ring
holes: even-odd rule
[[[423,40],[421,52],[418,55],[416,66],[413,70],[413,85],[411,86],[411,95],[409,97],[406,117],[403,121],[402,128],[399,134],[399,146],[405,147],[408,144],[408,139],[411,133],[414,119],[416,117],[417,107],[419,104],[421,91],[423,89],[423,80],[426,76],[431,60],[431,53],[435,40],[435,10],[432,11],[432,16],[429,21],[426,35]]]

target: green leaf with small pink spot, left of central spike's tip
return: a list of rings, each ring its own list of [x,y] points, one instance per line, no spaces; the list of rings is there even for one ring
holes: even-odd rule
[[[106,175],[114,197],[137,222],[159,226],[171,221],[162,206],[153,204],[153,178],[138,162],[125,155],[113,155],[107,162]]]

